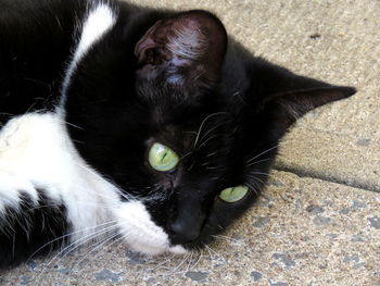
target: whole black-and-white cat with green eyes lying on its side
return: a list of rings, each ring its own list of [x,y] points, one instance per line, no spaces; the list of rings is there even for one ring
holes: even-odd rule
[[[0,269],[102,237],[202,247],[253,204],[289,127],[355,94],[255,58],[207,11],[0,10]]]

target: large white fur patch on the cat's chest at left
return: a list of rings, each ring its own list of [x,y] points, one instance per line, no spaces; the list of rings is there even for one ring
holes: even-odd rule
[[[17,116],[0,133],[0,210],[15,207],[21,191],[37,201],[35,188],[64,202],[77,232],[73,239],[110,221],[119,203],[115,188],[79,158],[53,113]]]

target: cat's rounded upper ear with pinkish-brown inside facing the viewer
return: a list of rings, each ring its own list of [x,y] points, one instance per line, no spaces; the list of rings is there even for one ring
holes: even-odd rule
[[[174,85],[212,85],[227,46],[221,22],[205,11],[178,13],[156,22],[138,41],[139,75],[164,76]]]

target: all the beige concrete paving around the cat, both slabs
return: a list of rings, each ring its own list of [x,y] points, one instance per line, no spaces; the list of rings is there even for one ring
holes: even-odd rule
[[[84,249],[0,285],[380,285],[380,1],[138,2],[211,9],[255,54],[358,92],[294,126],[258,203],[202,253]]]

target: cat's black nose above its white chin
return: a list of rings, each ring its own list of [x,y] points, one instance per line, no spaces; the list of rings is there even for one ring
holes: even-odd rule
[[[170,240],[174,245],[182,245],[197,240],[201,233],[201,224],[193,222],[187,223],[183,220],[177,220],[170,225]]]

